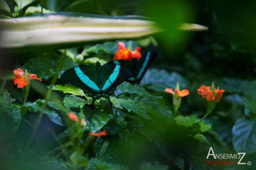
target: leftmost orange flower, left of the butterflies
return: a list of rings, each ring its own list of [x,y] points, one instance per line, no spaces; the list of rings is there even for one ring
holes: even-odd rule
[[[16,75],[14,77],[14,84],[18,84],[18,86],[17,86],[18,88],[23,88],[24,86],[27,86],[28,82],[27,82],[26,76],[24,75],[23,70],[18,68],[17,70],[14,70],[13,72]],[[41,79],[37,78],[37,75],[30,74],[30,73],[28,75],[29,75],[29,80],[37,79],[37,80],[40,80],[42,82]]]

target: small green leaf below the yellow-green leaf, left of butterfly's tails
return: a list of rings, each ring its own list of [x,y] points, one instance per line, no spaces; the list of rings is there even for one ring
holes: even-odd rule
[[[90,104],[91,101],[90,100],[84,100],[82,98],[76,97],[74,95],[66,95],[63,102],[64,102],[64,106],[70,110],[71,107],[80,107],[82,108],[84,106],[84,104]]]

